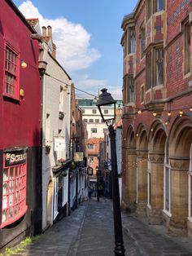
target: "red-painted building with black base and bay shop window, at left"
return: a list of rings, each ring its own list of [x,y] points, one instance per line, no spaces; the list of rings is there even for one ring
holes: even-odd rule
[[[12,1],[0,0],[0,248],[41,232],[41,81],[35,33]]]

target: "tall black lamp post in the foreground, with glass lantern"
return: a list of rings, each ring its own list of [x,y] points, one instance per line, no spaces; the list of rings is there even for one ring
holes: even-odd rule
[[[102,89],[102,94],[98,96],[96,106],[106,122],[109,130],[109,137],[111,139],[111,175],[112,175],[112,197],[113,197],[113,218],[114,218],[114,231],[115,231],[115,255],[124,256],[124,241],[121,223],[120,212],[120,191],[119,181],[117,173],[117,161],[116,161],[116,132],[114,130],[114,123],[116,121],[116,100],[112,98],[111,94],[107,92],[107,89]],[[113,105],[113,117],[105,117],[104,109],[106,106]]]

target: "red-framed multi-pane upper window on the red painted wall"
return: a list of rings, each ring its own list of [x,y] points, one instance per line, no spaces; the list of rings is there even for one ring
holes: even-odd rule
[[[9,68],[7,68],[7,62],[11,62],[11,60],[7,60],[7,50],[11,51],[13,55],[15,55],[15,73],[11,72]],[[7,92],[7,74],[9,74],[11,77],[14,77],[14,88],[15,91],[13,94]],[[19,51],[16,51],[13,46],[11,46],[10,43],[8,43],[6,40],[4,42],[4,61],[3,61],[3,92],[2,95],[6,96],[7,98],[20,100],[19,98],[19,90],[20,90],[20,53]]]

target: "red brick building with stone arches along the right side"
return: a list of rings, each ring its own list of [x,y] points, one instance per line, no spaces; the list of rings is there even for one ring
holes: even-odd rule
[[[140,0],[124,31],[122,205],[192,232],[192,2]]]

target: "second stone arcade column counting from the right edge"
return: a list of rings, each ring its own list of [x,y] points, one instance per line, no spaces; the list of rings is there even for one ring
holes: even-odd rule
[[[164,209],[164,153],[150,152],[151,161],[151,209],[147,209],[150,224],[163,223]]]

